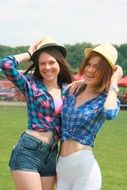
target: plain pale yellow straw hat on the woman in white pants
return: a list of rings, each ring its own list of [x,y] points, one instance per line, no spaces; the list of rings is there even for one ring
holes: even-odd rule
[[[112,44],[105,42],[105,43],[102,43],[93,49],[92,48],[86,48],[84,50],[85,56],[88,57],[90,52],[92,52],[92,51],[101,54],[108,61],[110,66],[112,68],[114,68],[116,60],[118,58],[118,52]]]

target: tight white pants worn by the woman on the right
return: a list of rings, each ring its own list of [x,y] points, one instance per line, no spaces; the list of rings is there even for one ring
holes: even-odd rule
[[[91,150],[60,156],[56,190],[100,190],[101,172]]]

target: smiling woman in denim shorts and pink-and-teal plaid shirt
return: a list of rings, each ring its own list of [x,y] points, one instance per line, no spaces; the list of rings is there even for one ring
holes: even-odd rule
[[[29,60],[33,63],[26,73],[33,69],[31,77],[17,69]],[[16,190],[53,190],[63,84],[72,82],[66,49],[46,37],[33,43],[27,52],[2,59],[0,68],[24,94],[28,110],[27,130],[9,162]]]

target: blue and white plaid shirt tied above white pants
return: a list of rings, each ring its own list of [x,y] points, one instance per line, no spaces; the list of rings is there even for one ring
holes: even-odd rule
[[[75,108],[76,95],[68,97],[62,109],[62,141],[74,139],[83,145],[93,147],[96,134],[104,121],[115,118],[120,109],[118,100],[116,109],[105,110],[105,100],[106,94],[101,93]]]

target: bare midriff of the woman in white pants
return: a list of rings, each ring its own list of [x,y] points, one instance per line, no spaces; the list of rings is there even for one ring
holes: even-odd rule
[[[89,145],[83,145],[73,139],[69,139],[62,143],[60,155],[68,156],[72,153],[75,153],[81,150],[92,150],[92,147],[90,147]]]

